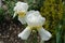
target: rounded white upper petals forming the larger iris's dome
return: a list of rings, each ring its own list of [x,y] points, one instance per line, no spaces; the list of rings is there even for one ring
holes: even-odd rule
[[[40,15],[39,11],[29,11],[26,14],[26,22],[29,26],[42,26],[46,18]]]

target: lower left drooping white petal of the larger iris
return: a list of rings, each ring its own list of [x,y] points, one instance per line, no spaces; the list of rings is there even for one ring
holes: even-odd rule
[[[22,31],[20,34],[18,34],[18,38],[21,38],[22,40],[27,40],[29,34],[30,34],[31,30],[29,27],[27,27],[24,31]]]

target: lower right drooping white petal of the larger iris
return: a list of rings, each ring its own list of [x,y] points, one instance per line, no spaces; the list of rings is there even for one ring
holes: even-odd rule
[[[52,34],[43,28],[38,29],[38,32],[43,41],[48,41],[52,37]]]

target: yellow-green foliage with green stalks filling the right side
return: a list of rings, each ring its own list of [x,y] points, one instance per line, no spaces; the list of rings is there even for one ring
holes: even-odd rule
[[[41,15],[47,18],[44,28],[52,32],[53,40],[56,43],[62,42],[63,25],[63,3],[62,0],[46,0],[40,9]],[[61,28],[60,28],[61,26]],[[55,38],[56,35],[56,38]],[[52,42],[51,42],[52,43]]]

